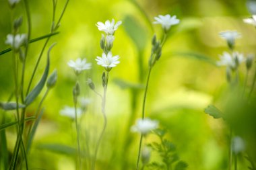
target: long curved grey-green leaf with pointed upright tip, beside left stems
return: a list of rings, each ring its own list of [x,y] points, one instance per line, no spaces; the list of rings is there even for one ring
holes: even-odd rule
[[[34,101],[34,99],[36,99],[36,97],[39,95],[39,93],[42,91],[42,88],[44,87],[44,84],[46,82],[48,73],[49,73],[49,67],[50,67],[50,51],[53,48],[53,46],[55,46],[55,44],[53,44],[49,50],[48,50],[48,55],[47,55],[47,63],[46,63],[46,67],[44,69],[44,74],[42,75],[42,78],[40,79],[39,83],[36,85],[36,87],[34,87],[34,89],[32,89],[32,91],[30,91],[30,93],[28,93],[24,103],[26,105],[29,105],[30,103],[32,103],[32,101]]]

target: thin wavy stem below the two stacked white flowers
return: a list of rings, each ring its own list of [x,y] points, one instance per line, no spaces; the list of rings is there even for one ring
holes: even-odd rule
[[[100,138],[98,138],[98,141],[96,142],[96,149],[94,152],[94,159],[92,162],[92,170],[95,169],[95,164],[96,164],[96,159],[97,159],[97,154],[98,154],[98,149],[100,148],[100,142],[103,138],[104,132],[106,130],[106,124],[107,124],[107,118],[106,118],[106,89],[108,87],[108,71],[106,72],[106,84],[104,85],[104,93],[103,93],[103,98],[102,98],[102,116],[104,118],[104,124],[103,124],[103,128],[102,131],[100,133]]]

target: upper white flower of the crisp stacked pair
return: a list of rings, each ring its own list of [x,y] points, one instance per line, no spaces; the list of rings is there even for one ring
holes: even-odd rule
[[[105,24],[102,22],[97,22],[96,26],[98,27],[98,30],[103,31],[108,35],[113,35],[121,24],[121,21],[115,24],[115,19],[112,19],[112,22],[106,20]]]

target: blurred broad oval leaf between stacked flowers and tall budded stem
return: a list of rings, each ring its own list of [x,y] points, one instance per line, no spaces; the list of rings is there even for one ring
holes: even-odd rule
[[[131,15],[127,15],[123,19],[123,26],[131,40],[137,46],[137,49],[143,51],[147,42],[146,30]]]

